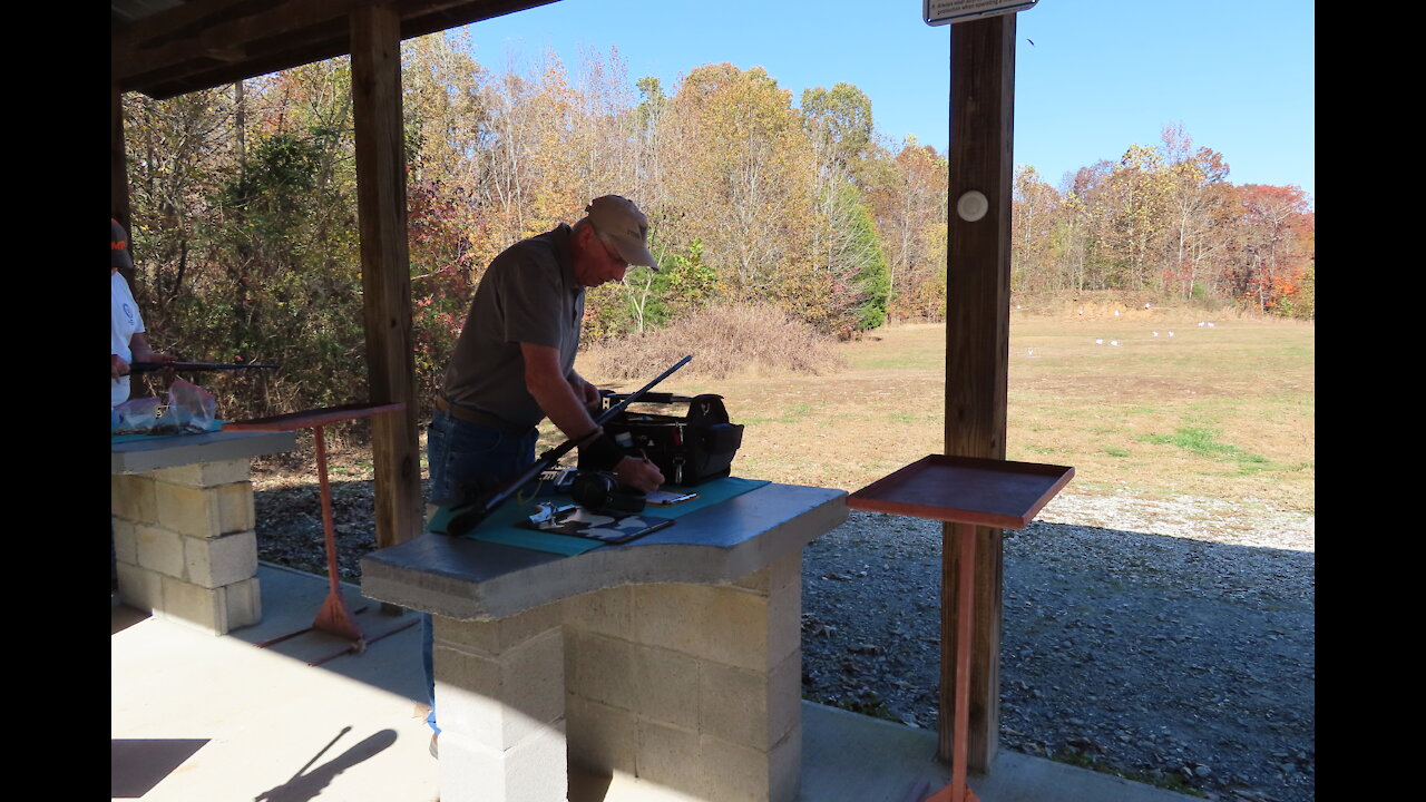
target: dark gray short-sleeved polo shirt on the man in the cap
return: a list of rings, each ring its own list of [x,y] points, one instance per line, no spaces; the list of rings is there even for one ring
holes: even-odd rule
[[[446,367],[446,400],[516,427],[535,427],[545,411],[525,390],[520,342],[559,348],[568,377],[583,317],[585,288],[575,278],[570,227],[560,223],[515,243],[495,257],[475,290]]]

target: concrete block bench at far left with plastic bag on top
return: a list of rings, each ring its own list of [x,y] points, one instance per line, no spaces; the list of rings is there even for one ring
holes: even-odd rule
[[[214,635],[261,621],[251,462],[295,441],[292,432],[207,432],[113,444],[124,604]]]

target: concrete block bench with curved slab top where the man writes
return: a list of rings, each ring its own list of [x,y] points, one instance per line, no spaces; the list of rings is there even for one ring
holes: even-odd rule
[[[578,766],[796,799],[801,549],[844,499],[770,484],[576,557],[435,534],[366,555],[364,595],[434,616],[441,798],[563,802]]]

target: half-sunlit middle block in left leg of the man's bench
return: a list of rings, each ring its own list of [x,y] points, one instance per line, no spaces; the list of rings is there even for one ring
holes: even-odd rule
[[[436,709],[488,749],[511,749],[565,716],[563,636],[546,629],[499,656],[435,645]],[[442,746],[443,748],[443,746]]]

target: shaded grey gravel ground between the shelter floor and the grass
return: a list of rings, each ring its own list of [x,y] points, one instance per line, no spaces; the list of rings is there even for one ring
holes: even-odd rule
[[[327,574],[315,482],[255,477],[258,557]],[[1252,502],[1245,502],[1251,505]],[[1004,538],[1000,745],[1225,802],[1315,798],[1313,518],[1061,494]],[[375,548],[334,481],[339,572]],[[803,695],[934,728],[941,528],[851,512],[803,561]]]

